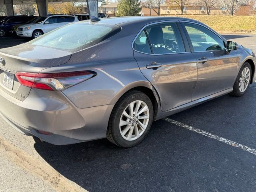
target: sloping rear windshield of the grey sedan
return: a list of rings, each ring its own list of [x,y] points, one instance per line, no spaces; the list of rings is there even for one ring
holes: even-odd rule
[[[58,28],[28,43],[76,52],[110,38],[121,30],[109,24],[73,23]]]

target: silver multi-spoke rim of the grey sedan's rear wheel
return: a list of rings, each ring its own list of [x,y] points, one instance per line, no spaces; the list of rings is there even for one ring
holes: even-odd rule
[[[119,130],[125,140],[134,141],[145,132],[149,122],[149,109],[145,102],[131,102],[122,112]]]

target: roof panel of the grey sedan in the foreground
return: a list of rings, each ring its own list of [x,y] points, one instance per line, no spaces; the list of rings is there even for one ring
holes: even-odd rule
[[[130,17],[112,17],[112,18],[103,18],[100,21],[97,21],[97,23],[102,24],[112,24],[112,25],[118,25],[118,24],[131,24],[131,23],[151,23],[151,22],[158,22],[158,21],[169,21],[169,20],[184,20],[184,21],[192,21],[202,24],[201,22],[189,18],[183,18],[183,17],[159,17],[159,16],[130,16]],[[86,22],[86,21],[81,21]]]

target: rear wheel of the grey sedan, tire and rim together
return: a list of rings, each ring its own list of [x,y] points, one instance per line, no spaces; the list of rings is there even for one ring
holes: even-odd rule
[[[139,91],[124,94],[110,116],[107,139],[120,146],[139,144],[149,132],[154,118],[150,98]]]

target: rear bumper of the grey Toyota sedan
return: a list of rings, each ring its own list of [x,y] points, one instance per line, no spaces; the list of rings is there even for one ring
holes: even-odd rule
[[[24,101],[20,101],[0,90],[0,116],[22,134],[34,135],[55,145],[106,138],[113,107],[80,109],[61,92],[34,89]]]

